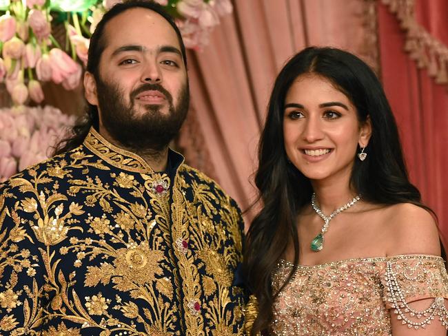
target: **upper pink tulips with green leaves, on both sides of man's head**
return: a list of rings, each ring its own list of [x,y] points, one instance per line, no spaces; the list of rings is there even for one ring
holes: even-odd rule
[[[0,81],[14,105],[44,99],[41,83],[65,90],[79,85],[87,63],[89,38],[103,14],[123,0],[10,0],[0,17]],[[187,48],[201,49],[218,17],[232,12],[230,0],[154,0],[176,19]],[[60,45],[52,21],[65,25]]]

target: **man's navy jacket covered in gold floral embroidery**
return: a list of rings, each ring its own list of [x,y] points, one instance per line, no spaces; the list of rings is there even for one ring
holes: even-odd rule
[[[0,335],[241,335],[243,220],[170,151],[168,168],[83,145],[0,185]]]

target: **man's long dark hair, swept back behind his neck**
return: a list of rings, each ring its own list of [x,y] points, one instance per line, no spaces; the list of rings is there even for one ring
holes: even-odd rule
[[[123,3],[117,3],[108,12],[104,14],[101,21],[99,21],[98,25],[96,25],[95,31],[92,34],[92,37],[90,38],[86,70],[91,74],[93,74],[96,83],[98,83],[100,79],[99,62],[101,59],[101,54],[103,54],[103,51],[107,44],[107,41],[104,36],[105,25],[117,15],[132,8],[145,8],[148,10],[152,10],[153,12],[160,14],[166,21],[168,21],[168,23],[170,23],[170,25],[176,32],[177,38],[179,39],[179,45],[181,46],[183,63],[185,64],[185,67],[187,67],[187,56],[185,54],[185,45],[183,44],[181,31],[177,27],[172,17],[170,17],[170,15],[165,12],[163,7],[160,6],[158,3],[154,3],[152,1],[147,0],[125,1]],[[142,29],[145,28],[142,27]],[[148,34],[150,34],[150,32],[148,32]],[[58,145],[56,145],[53,155],[65,153],[65,151],[70,151],[71,149],[74,149],[79,145],[81,145],[85,139],[85,136],[87,136],[90,127],[92,126],[96,130],[99,129],[98,109],[96,108],[95,105],[87,103],[85,114],[77,121],[77,124],[74,125],[72,129],[70,129],[69,136],[61,140],[61,142]]]

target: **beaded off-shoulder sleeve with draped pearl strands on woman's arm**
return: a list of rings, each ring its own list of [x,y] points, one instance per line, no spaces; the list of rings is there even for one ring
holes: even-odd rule
[[[440,257],[432,255],[401,255],[385,265],[381,282],[385,288],[386,307],[409,328],[425,328],[434,320],[448,328],[448,275]],[[409,304],[434,299],[427,308],[416,311]]]

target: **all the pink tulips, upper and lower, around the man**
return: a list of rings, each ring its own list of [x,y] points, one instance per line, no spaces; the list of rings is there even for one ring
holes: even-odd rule
[[[42,83],[72,90],[87,63],[90,36],[103,14],[123,0],[0,0],[0,81],[14,106],[0,109],[0,182],[45,160],[74,116],[54,107],[27,107],[44,99]],[[153,0],[179,25],[185,47],[200,50],[230,0]],[[65,25],[65,45],[52,35],[52,21]]]

